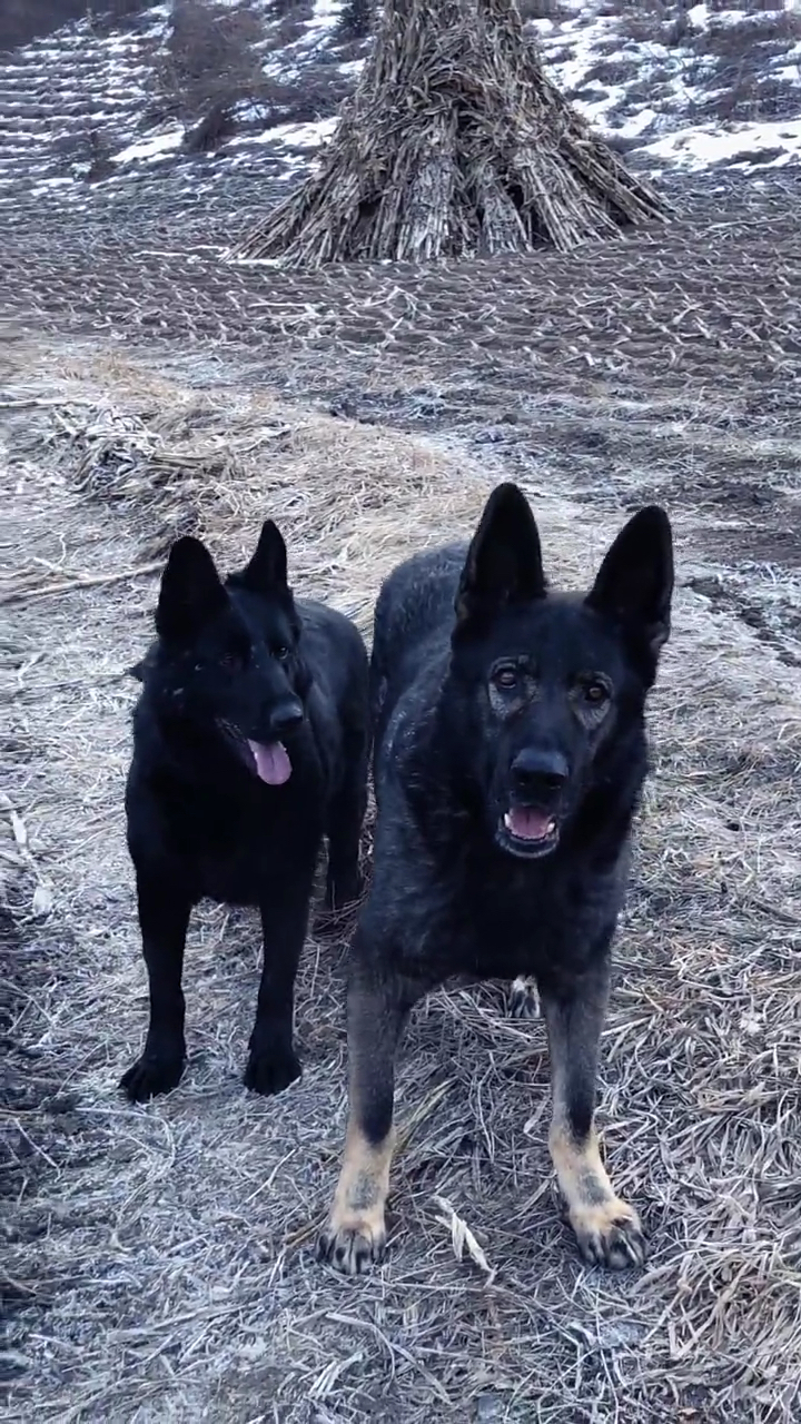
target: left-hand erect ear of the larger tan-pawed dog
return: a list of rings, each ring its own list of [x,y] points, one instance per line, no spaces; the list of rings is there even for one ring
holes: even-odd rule
[[[516,484],[499,484],[467,550],[456,592],[458,624],[544,592],[540,535],[529,501]]]

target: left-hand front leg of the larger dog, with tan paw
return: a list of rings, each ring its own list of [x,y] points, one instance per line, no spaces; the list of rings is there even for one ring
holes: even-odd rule
[[[393,1148],[395,1054],[423,993],[355,967],[348,990],[349,1104],[345,1156],[318,1255],[356,1276],[381,1260]]]

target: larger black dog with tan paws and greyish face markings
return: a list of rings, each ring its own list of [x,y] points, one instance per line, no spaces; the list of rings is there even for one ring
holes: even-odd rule
[[[586,597],[552,594],[520,490],[469,547],[402,564],[375,614],[378,827],[348,993],[351,1111],[321,1253],[356,1273],[385,1243],[403,1021],[452,975],[533,975],[547,1022],[550,1151],[583,1256],[640,1263],[637,1213],[593,1128],[610,944],[647,770],[643,725],[670,631],[667,515],[641,510]]]

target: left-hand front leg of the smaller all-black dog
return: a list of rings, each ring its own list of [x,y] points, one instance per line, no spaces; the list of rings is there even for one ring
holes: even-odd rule
[[[184,1072],[184,947],[191,900],[181,890],[137,866],[143,954],[150,981],[150,1025],[141,1058],[120,1087],[131,1102],[147,1102],[177,1088]]]

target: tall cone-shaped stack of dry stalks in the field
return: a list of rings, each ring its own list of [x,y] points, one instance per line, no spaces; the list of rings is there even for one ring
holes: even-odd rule
[[[547,78],[516,0],[388,0],[319,174],[234,255],[322,266],[569,251],[666,215]]]

